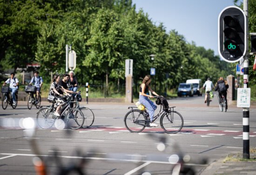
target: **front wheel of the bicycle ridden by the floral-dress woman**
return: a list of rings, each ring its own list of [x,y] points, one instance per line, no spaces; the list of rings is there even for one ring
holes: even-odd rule
[[[65,116],[65,125],[73,130],[81,128],[84,123],[84,115],[81,110],[72,108]]]

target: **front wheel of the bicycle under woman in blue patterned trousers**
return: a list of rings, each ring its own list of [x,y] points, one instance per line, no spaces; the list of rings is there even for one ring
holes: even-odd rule
[[[175,134],[183,127],[182,115],[176,111],[164,113],[160,119],[160,125],[165,132]]]

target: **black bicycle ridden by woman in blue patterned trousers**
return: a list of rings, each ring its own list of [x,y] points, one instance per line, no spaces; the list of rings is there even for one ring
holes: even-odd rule
[[[161,101],[161,109],[159,113],[153,118],[153,122],[161,116],[160,118],[160,125],[162,129],[169,133],[175,134],[182,130],[183,127],[183,118],[180,113],[174,111],[175,106],[162,108],[162,101]],[[145,127],[150,127],[150,118],[147,110],[139,110],[134,109],[137,107],[129,106],[128,109],[131,110],[125,115],[124,117],[124,124],[125,127],[130,132],[141,132],[145,129]],[[142,126],[142,127],[141,127]]]

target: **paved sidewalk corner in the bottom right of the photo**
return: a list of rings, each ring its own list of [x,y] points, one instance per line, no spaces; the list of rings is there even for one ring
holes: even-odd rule
[[[232,154],[233,155],[233,154]],[[243,153],[236,154],[242,158]],[[226,157],[226,156],[225,156]],[[225,157],[216,162],[212,162],[200,175],[255,175],[256,174],[256,153],[250,153],[250,159],[254,161],[246,162],[223,162]]]

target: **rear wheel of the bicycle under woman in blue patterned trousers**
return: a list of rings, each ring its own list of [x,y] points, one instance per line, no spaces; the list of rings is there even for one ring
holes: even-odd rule
[[[125,115],[124,124],[130,132],[141,132],[146,127],[146,119],[142,111],[134,109]]]

